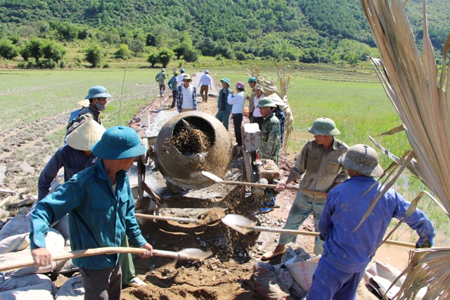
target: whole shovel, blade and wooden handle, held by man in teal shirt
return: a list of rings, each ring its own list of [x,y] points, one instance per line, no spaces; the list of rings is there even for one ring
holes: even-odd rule
[[[78,257],[94,256],[98,254],[144,254],[147,249],[133,248],[133,247],[103,247],[96,249],[77,250],[72,252],[65,252],[61,254],[52,255],[53,261],[61,261],[66,259],[77,259]],[[179,252],[155,250],[153,249],[153,256],[170,257],[172,259],[184,259],[191,261],[203,261],[212,255],[211,251],[204,252],[200,249],[187,248]],[[34,259],[21,259],[20,261],[8,261],[0,263],[0,271],[11,270],[15,268],[23,268],[34,266]]]

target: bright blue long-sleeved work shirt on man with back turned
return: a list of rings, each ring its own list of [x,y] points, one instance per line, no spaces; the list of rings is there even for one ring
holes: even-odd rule
[[[319,222],[320,234],[325,237],[323,259],[346,273],[358,273],[366,269],[375,249],[383,240],[391,219],[402,219],[411,204],[395,190],[389,189],[375,205],[370,216],[353,233],[381,187],[377,183],[366,193],[374,183],[375,179],[372,177],[355,176],[330,190],[326,197]],[[417,231],[419,245],[427,237],[432,243],[435,228],[420,209],[416,209],[405,223]]]

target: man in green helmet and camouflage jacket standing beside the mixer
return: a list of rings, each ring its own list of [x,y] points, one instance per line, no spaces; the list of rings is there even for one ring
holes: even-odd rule
[[[272,159],[278,166],[280,156],[280,122],[274,114],[276,104],[269,98],[259,101],[257,109],[264,118],[259,137],[259,158]]]

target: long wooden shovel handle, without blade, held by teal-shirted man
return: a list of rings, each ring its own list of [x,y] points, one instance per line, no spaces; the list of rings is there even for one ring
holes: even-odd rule
[[[120,254],[120,253],[132,253],[132,254],[144,254],[147,249],[133,248],[133,247],[103,247],[97,249],[77,250],[72,252],[65,252],[61,254],[52,255],[53,261],[61,261],[68,259],[77,259],[78,257],[94,256],[99,254]],[[170,252],[164,250],[153,249],[153,256],[163,256],[173,259],[188,259],[179,252]],[[8,261],[6,263],[0,263],[0,271],[11,270],[15,268],[24,268],[34,266],[34,259],[21,259],[20,261]]]

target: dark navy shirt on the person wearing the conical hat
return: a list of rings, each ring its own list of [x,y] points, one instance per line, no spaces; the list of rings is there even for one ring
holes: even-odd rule
[[[66,182],[79,171],[96,164],[97,161],[98,157],[95,155],[86,157],[83,151],[71,148],[69,145],[63,145],[55,152],[39,175],[37,200],[40,201],[49,194],[51,182],[56,178],[61,168],[64,167],[64,182]]]

